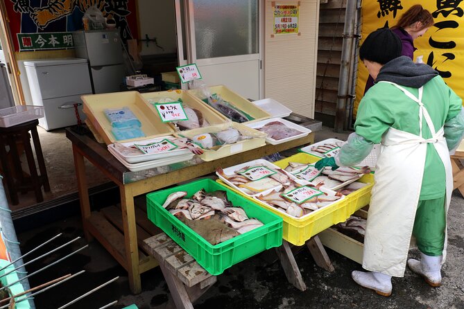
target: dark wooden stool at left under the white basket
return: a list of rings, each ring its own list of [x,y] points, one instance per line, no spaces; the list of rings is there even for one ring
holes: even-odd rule
[[[35,199],[37,202],[42,202],[44,200],[44,197],[42,196],[42,185],[44,186],[45,192],[50,191],[49,178],[46,175],[44,156],[42,154],[42,148],[40,147],[39,134],[37,134],[38,124],[39,121],[36,119],[19,125],[13,125],[12,127],[0,127],[1,167],[5,174],[8,193],[10,194],[10,199],[13,205],[17,205],[19,203],[17,195],[18,191],[26,193],[27,191],[33,190],[35,192]],[[29,131],[31,132],[33,139],[40,175],[37,175],[37,167],[35,166]],[[22,141],[24,146],[30,177],[24,177],[23,175],[21,161],[19,161],[20,154],[17,151],[17,141]],[[6,151],[7,145],[10,148],[9,152],[13,166],[8,164],[8,152]],[[15,177],[13,177],[12,168],[15,169]]]

